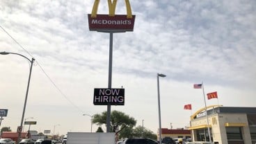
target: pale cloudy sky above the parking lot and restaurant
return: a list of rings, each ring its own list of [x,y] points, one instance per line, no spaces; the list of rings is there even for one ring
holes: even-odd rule
[[[90,132],[90,116],[106,111],[93,105],[94,88],[108,87],[109,33],[88,29],[94,0],[0,1],[0,51],[35,58],[24,118],[31,129],[66,134]],[[134,32],[113,35],[112,87],[125,88],[125,105],[112,106],[157,134],[157,73],[163,128],[189,126],[207,105],[256,107],[256,1],[130,0]],[[108,13],[100,1],[99,14]],[[118,1],[116,14],[126,14]],[[16,131],[29,78],[29,61],[0,55],[1,127]],[[184,110],[191,104],[192,111]],[[33,119],[31,118],[33,117]],[[55,127],[55,129],[54,129]],[[106,131],[106,127],[102,127]],[[25,130],[28,125],[25,126]],[[93,131],[97,125],[93,125]],[[55,131],[54,131],[55,130]]]

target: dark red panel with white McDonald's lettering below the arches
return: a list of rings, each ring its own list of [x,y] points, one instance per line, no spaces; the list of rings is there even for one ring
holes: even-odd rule
[[[88,15],[89,30],[103,31],[103,32],[126,32],[134,30],[135,15],[132,18],[127,18],[127,15],[97,15],[97,17],[90,17]]]

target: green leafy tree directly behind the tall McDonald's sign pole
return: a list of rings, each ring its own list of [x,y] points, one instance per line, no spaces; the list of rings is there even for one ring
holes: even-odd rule
[[[134,127],[136,125],[134,118],[129,117],[121,111],[111,111],[110,119],[110,130],[115,133],[121,132],[125,127]],[[106,125],[106,111],[102,112],[102,114],[95,114],[93,116],[93,123]]]

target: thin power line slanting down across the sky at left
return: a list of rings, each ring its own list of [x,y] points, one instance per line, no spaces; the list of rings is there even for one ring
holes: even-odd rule
[[[15,38],[13,38],[1,25],[0,25],[1,29],[11,38],[13,39],[13,41],[19,46],[21,47],[26,53],[28,53],[31,57],[33,57],[31,55],[31,53],[29,53],[29,51],[26,50],[26,48],[24,48],[21,44],[19,44],[19,42],[17,42],[17,40]],[[79,107],[77,107],[77,105],[74,105],[74,103],[67,98],[67,96],[61,91],[61,89],[58,88],[58,86],[55,84],[55,82],[53,80],[51,80],[51,78],[49,77],[49,75],[45,72],[44,69],[42,69],[42,66],[39,64],[39,62],[37,60],[35,60],[36,64],[38,64],[38,66],[40,67],[40,69],[42,70],[43,73],[45,73],[45,75],[47,76],[48,80],[51,82],[51,84],[54,85],[54,87],[58,90],[58,92],[61,93],[61,95],[68,101],[70,102],[71,105],[73,105],[74,107],[76,107],[79,111],[81,111],[81,113],[85,113],[83,110],[81,110]]]

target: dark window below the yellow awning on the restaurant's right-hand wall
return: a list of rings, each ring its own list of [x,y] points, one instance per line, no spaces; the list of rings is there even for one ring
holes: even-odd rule
[[[242,140],[241,127],[226,127],[228,140]]]

